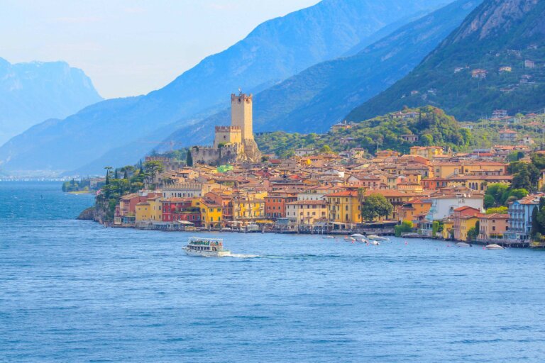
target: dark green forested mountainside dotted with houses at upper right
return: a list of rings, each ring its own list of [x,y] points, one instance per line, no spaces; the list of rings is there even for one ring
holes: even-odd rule
[[[545,107],[545,1],[486,0],[413,72],[349,120],[430,104],[458,119]]]

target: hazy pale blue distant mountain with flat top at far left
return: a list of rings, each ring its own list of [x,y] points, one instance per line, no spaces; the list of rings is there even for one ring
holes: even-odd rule
[[[0,145],[35,123],[101,100],[91,79],[65,62],[12,65],[0,58]]]

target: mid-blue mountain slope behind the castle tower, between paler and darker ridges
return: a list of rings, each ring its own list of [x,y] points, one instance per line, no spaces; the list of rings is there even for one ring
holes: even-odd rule
[[[254,129],[322,133],[363,101],[407,75],[481,0],[458,0],[395,30],[351,57],[322,62],[254,98]],[[215,124],[229,123],[224,110],[167,140],[209,143]]]

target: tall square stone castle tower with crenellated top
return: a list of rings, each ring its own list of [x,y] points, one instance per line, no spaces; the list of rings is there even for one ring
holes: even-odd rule
[[[246,158],[252,162],[259,162],[261,152],[253,139],[253,100],[252,95],[242,92],[231,94],[231,126],[241,128],[242,143]]]

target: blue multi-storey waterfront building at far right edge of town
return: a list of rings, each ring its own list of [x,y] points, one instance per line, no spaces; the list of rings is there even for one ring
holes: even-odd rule
[[[505,233],[508,240],[528,240],[532,231],[532,213],[539,206],[543,193],[530,194],[518,201],[509,203],[509,232]]]

